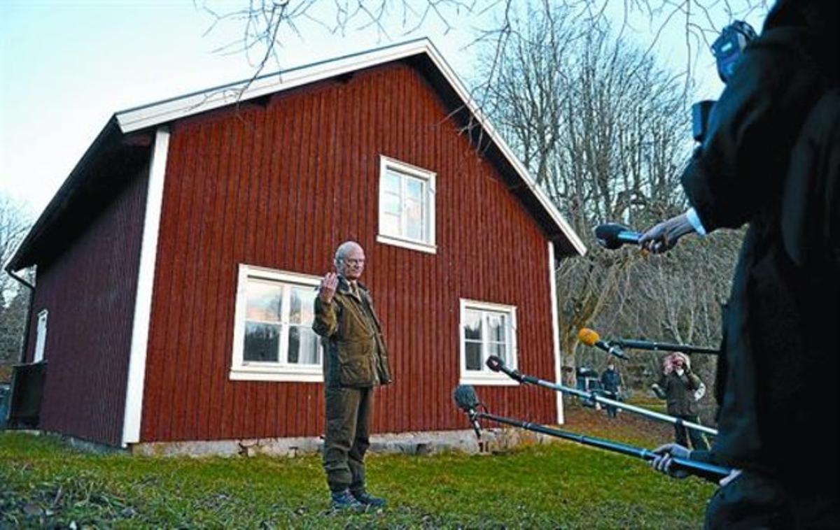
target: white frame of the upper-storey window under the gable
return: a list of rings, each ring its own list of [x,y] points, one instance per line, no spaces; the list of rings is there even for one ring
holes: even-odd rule
[[[412,239],[406,236],[394,236],[392,234],[384,234],[382,233],[382,226],[385,226],[383,221],[384,212],[382,211],[382,205],[384,204],[383,195],[385,194],[385,186],[382,185],[382,181],[385,179],[386,174],[388,171],[392,171],[398,174],[402,174],[403,177],[409,177],[413,179],[420,179],[424,181],[426,184],[426,196],[423,197],[425,201],[424,206],[426,206],[426,222],[425,231],[428,234],[428,241],[421,241],[417,239]],[[396,247],[404,247],[409,248],[412,250],[417,250],[420,252],[428,252],[430,254],[435,254],[438,252],[438,247],[436,245],[435,239],[435,209],[434,209],[434,199],[435,199],[435,179],[437,174],[433,171],[429,171],[428,169],[418,168],[417,166],[413,166],[412,164],[406,164],[405,162],[400,162],[394,158],[388,158],[384,155],[380,155],[379,160],[379,229],[378,234],[376,235],[376,241],[380,243],[385,243],[386,245],[395,245]],[[403,188],[405,187],[406,179],[403,178],[401,180]],[[405,195],[404,193],[402,195]],[[404,205],[401,206],[401,210],[404,210]]]

